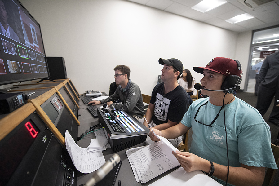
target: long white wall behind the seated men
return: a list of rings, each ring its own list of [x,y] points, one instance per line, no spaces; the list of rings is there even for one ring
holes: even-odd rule
[[[219,56],[242,60],[249,55],[240,49],[250,47],[249,33],[238,38],[232,31],[133,2],[20,1],[41,25],[46,56],[65,58],[68,77],[80,94],[88,89],[108,93],[118,64],[129,66],[131,80],[151,95],[161,74],[159,58],[181,60],[199,82],[202,75],[193,66]]]

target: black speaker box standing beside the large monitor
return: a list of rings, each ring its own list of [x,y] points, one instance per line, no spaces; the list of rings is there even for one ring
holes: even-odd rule
[[[63,57],[47,57],[51,79],[67,79],[65,60]]]

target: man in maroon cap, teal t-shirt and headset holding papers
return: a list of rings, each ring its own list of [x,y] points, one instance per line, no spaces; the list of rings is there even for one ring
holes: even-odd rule
[[[234,97],[233,91],[213,91],[226,89],[222,84],[232,75],[241,77],[237,62],[217,57],[193,70],[203,73],[201,93],[209,97],[194,101],[178,125],[155,129],[155,133],[172,139],[192,128],[190,151],[172,152],[184,170],[202,170],[223,185],[227,181],[228,185],[261,186],[265,167],[277,169],[268,124],[255,108]],[[149,134],[158,141],[152,131]]]

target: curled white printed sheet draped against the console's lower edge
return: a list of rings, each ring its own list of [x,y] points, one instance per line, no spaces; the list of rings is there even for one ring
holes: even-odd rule
[[[68,130],[65,132],[65,144],[74,166],[82,173],[91,173],[106,162],[102,151],[88,153],[87,148],[79,147]]]

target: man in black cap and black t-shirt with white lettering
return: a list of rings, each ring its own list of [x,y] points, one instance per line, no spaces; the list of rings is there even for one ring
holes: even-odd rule
[[[164,65],[161,70],[163,82],[154,87],[145,118],[152,128],[163,130],[180,122],[188,109],[189,97],[184,88],[177,83],[183,72],[181,61],[160,58],[159,63]],[[145,120],[143,124],[148,127]],[[182,141],[182,136],[169,141],[177,147]]]

